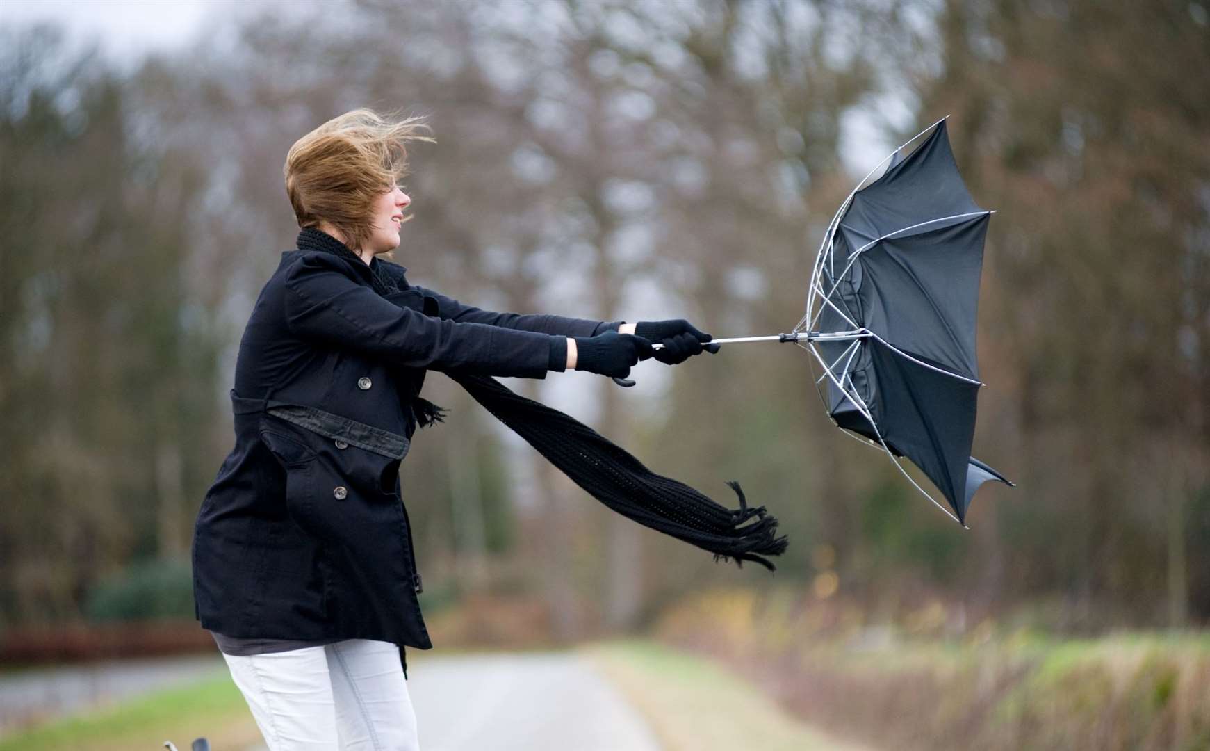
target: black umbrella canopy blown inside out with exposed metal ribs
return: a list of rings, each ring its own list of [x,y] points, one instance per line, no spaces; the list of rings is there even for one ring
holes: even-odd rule
[[[967,191],[940,121],[846,201],[803,320],[819,334],[809,346],[826,369],[820,382],[836,424],[910,459],[962,523],[984,482],[1012,485],[970,457],[990,216]]]

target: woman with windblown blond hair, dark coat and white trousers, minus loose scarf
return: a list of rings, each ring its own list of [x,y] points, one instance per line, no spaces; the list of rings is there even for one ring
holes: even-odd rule
[[[419,747],[403,648],[432,643],[398,470],[440,419],[419,396],[426,371],[624,377],[710,340],[684,320],[491,313],[409,285],[378,256],[399,245],[404,144],[432,141],[420,127],[358,109],[287,154],[296,248],[244,329],[235,448],[197,516],[196,615],[271,751]]]

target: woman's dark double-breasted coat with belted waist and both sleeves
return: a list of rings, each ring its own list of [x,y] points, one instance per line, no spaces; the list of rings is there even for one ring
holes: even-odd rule
[[[358,260],[311,250],[261,289],[240,343],[235,447],[194,529],[201,625],[234,637],[432,647],[399,463],[427,369],[544,378],[551,336],[618,322],[480,310],[408,285],[382,297]],[[410,499],[409,499],[410,500]]]

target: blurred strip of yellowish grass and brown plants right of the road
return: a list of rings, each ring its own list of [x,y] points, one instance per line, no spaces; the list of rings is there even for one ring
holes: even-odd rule
[[[860,625],[840,598],[789,595],[695,594],[656,635],[727,660],[812,724],[871,747],[1210,749],[1210,635],[1056,638],[983,621],[943,640],[911,624]],[[908,620],[944,620],[946,609],[932,602]]]

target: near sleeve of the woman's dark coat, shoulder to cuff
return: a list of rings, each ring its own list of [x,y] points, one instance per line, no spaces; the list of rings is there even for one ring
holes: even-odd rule
[[[396,366],[544,378],[552,337],[426,316],[358,283],[344,262],[306,253],[286,271],[286,323],[298,337]]]

